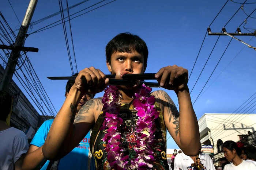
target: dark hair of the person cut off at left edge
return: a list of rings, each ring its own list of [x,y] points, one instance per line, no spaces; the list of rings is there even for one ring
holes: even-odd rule
[[[5,121],[11,111],[12,97],[7,92],[0,91],[0,119]]]

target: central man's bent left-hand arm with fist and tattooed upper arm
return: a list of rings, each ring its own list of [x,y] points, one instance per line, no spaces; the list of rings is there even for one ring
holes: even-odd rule
[[[85,78],[86,82],[82,81]],[[57,160],[68,154],[89,132],[95,123],[94,109],[97,107],[95,99],[83,105],[76,116],[76,108],[83,94],[102,92],[109,83],[105,74],[94,67],[79,72],[75,84],[71,87],[63,106],[55,117],[49,130],[45,144],[42,147],[44,157]]]

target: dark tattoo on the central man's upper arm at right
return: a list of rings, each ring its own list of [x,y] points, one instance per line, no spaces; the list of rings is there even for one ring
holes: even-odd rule
[[[175,131],[175,135],[177,136],[180,131],[180,123],[179,123],[180,113],[178,112],[172,99],[169,97],[169,95],[165,91],[159,90],[158,93],[155,94],[156,101],[157,101],[157,98],[161,98],[160,96],[167,101],[167,102],[164,101],[164,105],[167,107],[167,115],[169,116],[169,123],[172,121],[172,117],[173,117],[172,123],[175,125],[174,131]]]

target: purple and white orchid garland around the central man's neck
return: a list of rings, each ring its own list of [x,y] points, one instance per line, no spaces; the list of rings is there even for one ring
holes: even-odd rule
[[[154,144],[157,142],[154,139],[154,120],[158,118],[159,112],[154,106],[155,97],[148,95],[151,91],[150,87],[143,84],[142,88],[138,89],[138,93],[135,93],[136,98],[133,100],[133,106],[138,111],[136,113],[138,121],[135,127],[138,138],[135,147],[133,147],[136,156],[129,159],[129,155],[124,156],[124,147],[120,146],[120,128],[123,125],[123,119],[118,117],[120,115],[121,93],[116,86],[109,86],[105,89],[102,99],[102,111],[105,114],[105,120],[100,130],[104,130],[105,133],[102,140],[106,143],[107,160],[111,169],[152,169],[151,163],[155,161]],[[130,163],[127,159],[130,160]]]

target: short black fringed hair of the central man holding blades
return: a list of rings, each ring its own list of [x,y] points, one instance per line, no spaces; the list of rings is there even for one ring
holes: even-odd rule
[[[115,52],[132,53],[137,51],[142,53],[144,57],[144,65],[147,66],[148,49],[143,39],[138,35],[133,35],[129,32],[121,33],[115,36],[106,45],[106,60],[111,63],[111,55]]]

